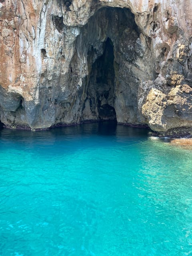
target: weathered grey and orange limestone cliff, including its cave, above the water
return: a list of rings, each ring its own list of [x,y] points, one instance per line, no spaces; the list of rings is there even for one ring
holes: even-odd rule
[[[0,0],[0,120],[192,132],[190,0]]]

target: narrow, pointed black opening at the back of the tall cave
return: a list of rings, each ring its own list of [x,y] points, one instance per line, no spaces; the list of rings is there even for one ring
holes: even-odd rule
[[[102,47],[103,54],[92,63],[88,97],[94,98],[92,103],[95,101],[99,120],[116,120],[114,108],[114,47],[111,39],[107,38]],[[89,56],[92,56],[93,51],[92,48]],[[95,92],[94,95],[92,95],[93,91]]]

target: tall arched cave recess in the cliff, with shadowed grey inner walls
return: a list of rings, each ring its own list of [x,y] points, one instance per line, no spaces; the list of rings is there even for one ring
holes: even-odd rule
[[[81,122],[116,119],[119,123],[140,123],[138,87],[152,74],[144,70],[146,49],[129,8],[102,7],[90,17],[76,38],[68,72],[72,84],[81,87]]]

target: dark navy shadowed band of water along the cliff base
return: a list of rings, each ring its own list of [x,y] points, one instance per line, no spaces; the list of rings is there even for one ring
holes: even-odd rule
[[[149,130],[117,124],[115,121],[80,124],[76,126],[52,128],[46,131],[0,130],[0,140],[20,143],[52,144],[60,140],[75,140],[91,136],[147,138]]]

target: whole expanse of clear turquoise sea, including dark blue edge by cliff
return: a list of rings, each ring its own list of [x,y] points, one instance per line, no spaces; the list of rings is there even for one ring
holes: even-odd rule
[[[148,130],[0,131],[0,256],[192,255],[192,150]]]

